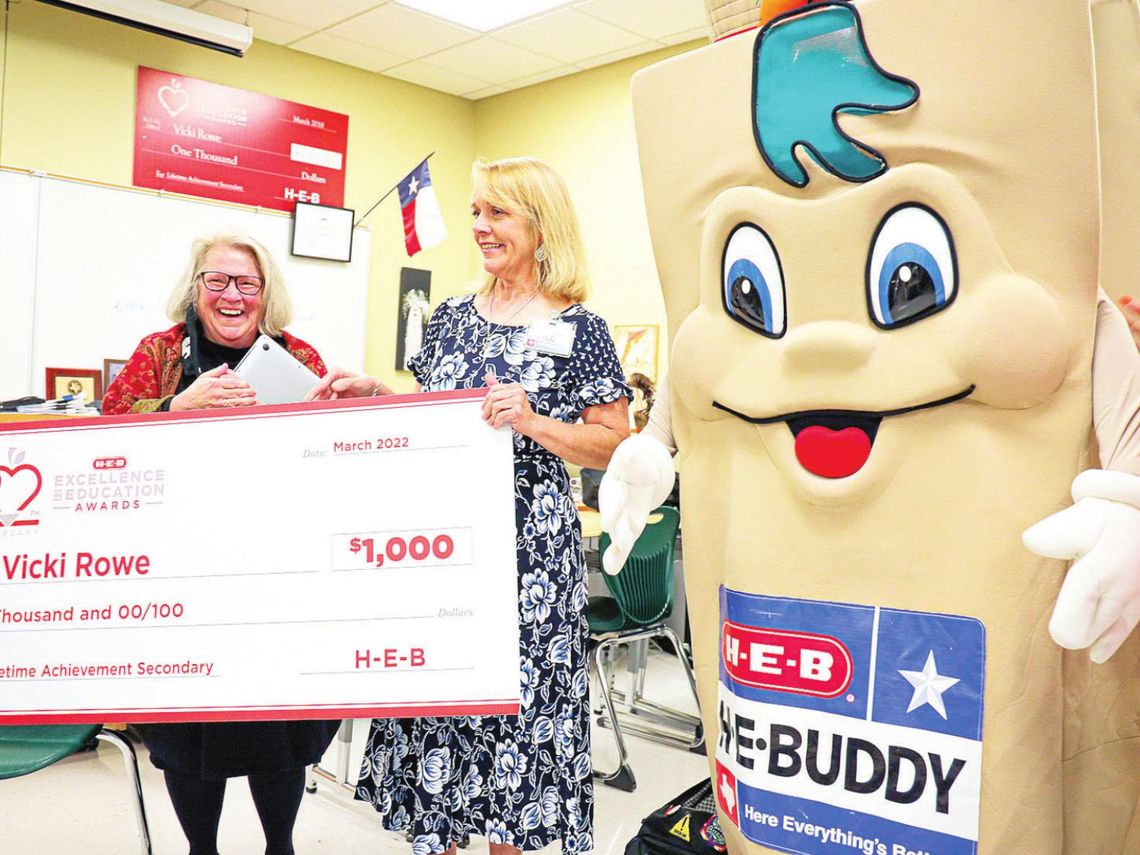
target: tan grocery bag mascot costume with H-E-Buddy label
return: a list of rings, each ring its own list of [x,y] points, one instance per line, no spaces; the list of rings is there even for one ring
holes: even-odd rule
[[[1098,290],[1088,0],[707,3],[723,38],[633,97],[730,850],[1140,853],[1140,357]],[[1097,6],[1135,127],[1135,2]],[[671,463],[619,447],[608,569]]]

